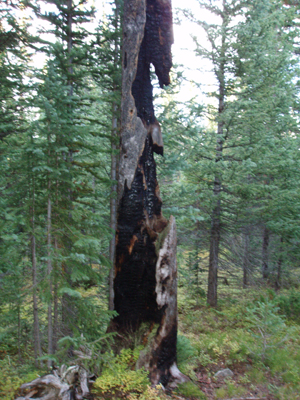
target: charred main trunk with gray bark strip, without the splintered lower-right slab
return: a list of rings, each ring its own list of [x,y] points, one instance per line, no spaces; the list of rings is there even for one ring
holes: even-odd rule
[[[171,22],[169,1],[124,3],[122,149],[114,280],[119,330],[136,329],[143,321],[161,319],[155,294],[155,243],[167,221],[161,213],[153,155],[154,151],[162,153],[162,139],[153,110],[150,63],[155,65],[161,86],[167,85],[172,64]]]

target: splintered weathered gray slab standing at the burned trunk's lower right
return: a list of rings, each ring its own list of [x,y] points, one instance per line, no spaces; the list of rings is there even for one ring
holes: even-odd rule
[[[163,310],[160,325],[152,343],[141,352],[137,368],[145,367],[150,373],[151,382],[176,383],[189,379],[176,365],[177,341],[177,262],[176,262],[176,223],[173,216],[157,241],[158,260],[156,263],[156,301]],[[171,349],[166,351],[166,347]]]

